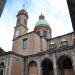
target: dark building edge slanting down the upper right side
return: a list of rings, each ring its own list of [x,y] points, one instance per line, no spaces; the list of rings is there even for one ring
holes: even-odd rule
[[[75,34],[75,0],[67,0],[72,26]]]

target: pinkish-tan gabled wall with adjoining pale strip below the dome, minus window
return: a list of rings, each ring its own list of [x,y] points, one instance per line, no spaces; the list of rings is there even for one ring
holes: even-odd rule
[[[28,40],[28,48],[26,49],[23,48],[23,39],[25,38],[27,38]],[[14,40],[12,51],[22,55],[31,55],[41,51],[40,42],[41,42],[40,37],[35,32],[32,32],[30,34],[18,38],[17,40]],[[47,50],[47,44],[45,39],[43,39],[42,45],[43,50]]]

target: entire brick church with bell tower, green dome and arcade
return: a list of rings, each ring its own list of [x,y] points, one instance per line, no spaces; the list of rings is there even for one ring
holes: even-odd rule
[[[74,33],[52,38],[43,14],[28,33],[27,20],[27,11],[20,10],[12,51],[0,56],[0,75],[75,75]]]

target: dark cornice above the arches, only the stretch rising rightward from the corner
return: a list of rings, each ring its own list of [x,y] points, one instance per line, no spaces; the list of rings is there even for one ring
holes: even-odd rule
[[[46,53],[47,54],[59,53],[59,52],[62,52],[62,51],[68,51],[68,50],[73,50],[73,49],[75,49],[74,46],[63,46],[63,47],[60,47],[60,48],[50,48],[47,51],[39,52],[39,53],[36,53],[36,54],[33,54],[33,55],[29,55],[28,57],[42,56],[42,55],[45,55]]]

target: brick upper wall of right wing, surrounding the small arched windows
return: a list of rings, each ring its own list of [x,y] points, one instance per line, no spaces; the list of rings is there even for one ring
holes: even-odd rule
[[[69,33],[67,35],[58,36],[55,38],[50,39],[50,42],[54,42],[57,46],[57,48],[61,47],[61,42],[65,39],[69,46],[72,46],[74,44],[74,33]]]

